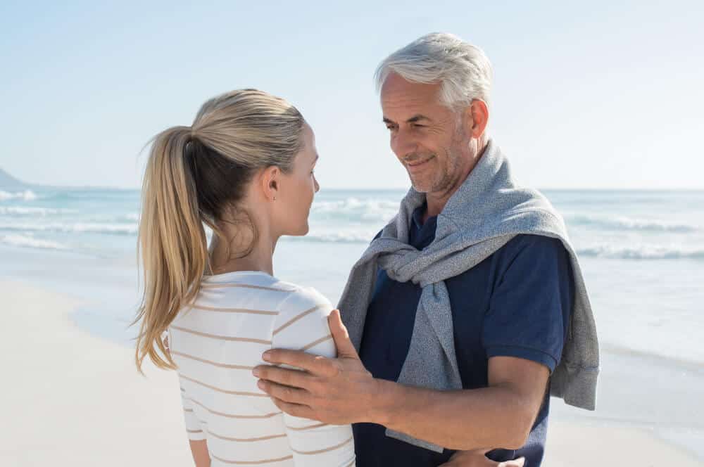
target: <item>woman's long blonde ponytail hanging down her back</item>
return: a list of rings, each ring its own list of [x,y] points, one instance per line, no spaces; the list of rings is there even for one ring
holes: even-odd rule
[[[190,127],[161,132],[146,165],[138,243],[144,295],[134,321],[142,321],[135,353],[140,372],[147,356],[160,368],[175,369],[161,335],[195,298],[208,264],[206,233],[186,160],[192,157],[187,151],[192,140]]]

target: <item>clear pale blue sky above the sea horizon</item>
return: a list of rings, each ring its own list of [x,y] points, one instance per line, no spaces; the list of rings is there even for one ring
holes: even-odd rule
[[[0,167],[15,177],[137,187],[153,134],[257,87],[313,126],[323,188],[406,187],[372,74],[445,31],[494,63],[490,131],[523,184],[704,188],[701,1],[107,3],[1,2]]]

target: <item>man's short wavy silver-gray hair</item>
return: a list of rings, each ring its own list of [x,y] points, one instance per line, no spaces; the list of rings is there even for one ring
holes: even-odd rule
[[[433,32],[398,49],[377,68],[375,82],[381,91],[391,73],[417,83],[440,83],[440,99],[456,109],[474,99],[489,106],[494,72],[484,51],[453,34]]]

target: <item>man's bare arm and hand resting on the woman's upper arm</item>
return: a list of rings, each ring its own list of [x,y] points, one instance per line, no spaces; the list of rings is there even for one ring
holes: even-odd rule
[[[448,449],[525,444],[549,370],[516,357],[489,359],[489,387],[438,391],[375,379],[360,361],[335,310],[329,318],[337,359],[269,350],[264,359],[307,372],[258,366],[261,388],[279,409],[325,423],[369,422]]]

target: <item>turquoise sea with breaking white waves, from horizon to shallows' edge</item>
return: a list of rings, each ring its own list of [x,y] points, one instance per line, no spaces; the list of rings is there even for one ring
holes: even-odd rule
[[[367,243],[396,212],[403,191],[322,191],[305,238]],[[704,191],[545,191],[565,216],[582,257],[704,260]],[[99,256],[134,248],[139,191],[0,190],[0,244]]]

